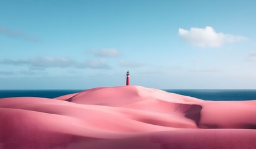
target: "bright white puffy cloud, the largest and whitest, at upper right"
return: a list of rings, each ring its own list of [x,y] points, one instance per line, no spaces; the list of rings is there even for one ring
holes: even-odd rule
[[[192,43],[198,47],[220,47],[224,43],[240,42],[247,37],[239,35],[217,33],[212,27],[207,26],[204,29],[191,27],[190,30],[179,28],[179,36],[186,42]]]

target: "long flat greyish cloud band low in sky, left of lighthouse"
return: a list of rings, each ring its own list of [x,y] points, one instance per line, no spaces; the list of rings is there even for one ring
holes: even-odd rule
[[[37,58],[29,58],[27,60],[11,60],[4,59],[0,60],[0,64],[2,65],[14,65],[21,66],[26,65],[29,66],[30,70],[45,70],[45,68],[92,68],[92,69],[103,69],[108,70],[111,67],[108,65],[106,60],[89,60],[85,63],[80,63],[75,60],[70,60],[65,57],[51,57],[51,56],[41,56]]]

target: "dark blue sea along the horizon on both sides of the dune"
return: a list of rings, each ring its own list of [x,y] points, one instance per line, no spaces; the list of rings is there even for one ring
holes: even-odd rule
[[[246,101],[256,99],[256,89],[163,89],[169,93],[182,94],[207,101]],[[83,90],[0,90],[4,97],[54,98]]]

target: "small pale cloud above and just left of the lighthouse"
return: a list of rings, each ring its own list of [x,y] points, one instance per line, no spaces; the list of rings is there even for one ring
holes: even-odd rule
[[[103,48],[101,50],[92,50],[91,52],[93,55],[101,57],[116,57],[119,55],[118,50],[115,48]]]

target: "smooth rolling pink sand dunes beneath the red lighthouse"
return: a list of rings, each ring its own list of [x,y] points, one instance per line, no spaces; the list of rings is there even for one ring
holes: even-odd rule
[[[0,148],[256,148],[256,100],[141,86],[0,99]]]

